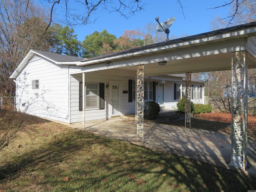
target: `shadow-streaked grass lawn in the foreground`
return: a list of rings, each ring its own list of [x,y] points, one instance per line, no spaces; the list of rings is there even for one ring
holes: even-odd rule
[[[0,192],[256,190],[256,178],[243,172],[54,122],[30,124],[29,128],[29,135],[20,135],[0,152]]]

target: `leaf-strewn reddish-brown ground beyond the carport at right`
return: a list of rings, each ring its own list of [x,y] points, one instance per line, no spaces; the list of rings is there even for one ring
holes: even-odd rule
[[[170,125],[183,126],[184,120],[169,122]],[[191,118],[191,128],[231,134],[231,114],[212,112],[194,114]],[[248,136],[256,138],[256,116],[248,115]]]

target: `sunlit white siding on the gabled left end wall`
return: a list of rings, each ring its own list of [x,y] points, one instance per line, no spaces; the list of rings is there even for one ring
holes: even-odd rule
[[[18,109],[43,118],[69,122],[68,71],[78,71],[78,68],[56,65],[40,56],[32,58],[16,78]],[[24,105],[28,106],[27,109]]]

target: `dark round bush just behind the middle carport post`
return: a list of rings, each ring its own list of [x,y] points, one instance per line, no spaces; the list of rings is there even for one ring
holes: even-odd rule
[[[156,119],[160,112],[160,106],[154,101],[147,101],[144,105],[144,119],[153,120]]]

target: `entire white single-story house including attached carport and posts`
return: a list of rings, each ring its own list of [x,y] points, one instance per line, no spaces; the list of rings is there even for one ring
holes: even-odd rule
[[[256,22],[89,59],[31,50],[10,77],[16,79],[20,110],[68,123],[82,121],[83,127],[85,121],[135,111],[137,141],[142,138],[143,143],[144,100],[172,108],[182,95],[177,87],[184,81],[170,74],[186,73],[186,100],[199,102],[203,83],[192,82],[191,73],[231,70],[230,166],[245,170],[248,68],[256,68]],[[186,105],[186,123],[189,112]]]

